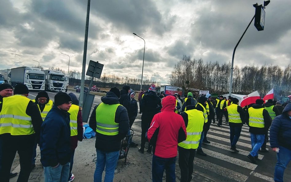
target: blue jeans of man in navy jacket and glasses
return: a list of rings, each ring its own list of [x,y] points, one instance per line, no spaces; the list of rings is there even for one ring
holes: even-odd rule
[[[45,182],[68,182],[70,163],[59,165],[56,168],[44,167]]]

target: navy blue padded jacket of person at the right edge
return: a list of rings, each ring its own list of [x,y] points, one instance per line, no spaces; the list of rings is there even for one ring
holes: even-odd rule
[[[291,103],[285,106],[283,113],[276,116],[270,129],[271,148],[285,147],[291,150],[291,119],[287,114],[291,110]]]

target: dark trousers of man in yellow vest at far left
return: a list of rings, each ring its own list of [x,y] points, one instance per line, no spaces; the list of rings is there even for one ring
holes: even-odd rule
[[[3,136],[5,135],[5,136]],[[19,155],[20,173],[17,182],[27,182],[31,171],[31,159],[35,137],[32,135],[0,136],[1,182],[9,182],[10,170],[16,152]]]

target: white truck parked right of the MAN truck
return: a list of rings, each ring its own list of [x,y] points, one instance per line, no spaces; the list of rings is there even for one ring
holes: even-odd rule
[[[44,70],[45,72],[45,90],[47,91],[64,91],[65,83],[68,81],[68,76],[56,70]]]

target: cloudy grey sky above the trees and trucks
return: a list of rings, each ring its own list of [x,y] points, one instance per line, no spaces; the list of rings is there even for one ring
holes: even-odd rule
[[[167,83],[183,57],[231,61],[252,19],[253,0],[91,0],[87,64],[103,74]],[[263,1],[258,1],[262,4]],[[250,25],[235,53],[235,65],[291,63],[291,1],[271,0],[265,30]],[[87,0],[0,1],[0,69],[37,65],[81,71]],[[87,66],[86,66],[87,67]]]

